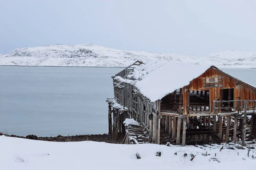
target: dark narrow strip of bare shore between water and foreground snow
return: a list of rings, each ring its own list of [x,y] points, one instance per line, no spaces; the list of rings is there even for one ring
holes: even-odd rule
[[[38,137],[36,135],[27,135],[17,136],[17,135],[8,135],[0,132],[0,136],[8,136],[22,139],[32,139],[32,140],[40,140],[40,141],[49,141],[49,142],[81,142],[81,141],[94,141],[94,142],[106,142],[112,144],[120,144],[122,140],[120,139],[118,142],[112,139],[112,135],[109,134],[93,134],[93,135],[76,135],[76,136],[51,136],[51,137]]]

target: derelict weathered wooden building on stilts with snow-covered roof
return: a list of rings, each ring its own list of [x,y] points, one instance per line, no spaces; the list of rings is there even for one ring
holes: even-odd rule
[[[112,78],[108,122],[116,140],[184,146],[256,137],[256,87],[215,66],[137,61]]]

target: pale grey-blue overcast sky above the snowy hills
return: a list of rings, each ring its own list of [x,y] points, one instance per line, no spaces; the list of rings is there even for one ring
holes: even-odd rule
[[[94,43],[196,56],[256,51],[255,0],[0,0],[0,53]]]

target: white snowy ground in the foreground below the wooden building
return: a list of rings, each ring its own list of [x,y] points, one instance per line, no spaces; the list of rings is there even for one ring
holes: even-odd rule
[[[224,147],[220,151],[220,148],[220,145],[199,148],[90,141],[45,142],[0,136],[0,170],[242,170],[256,166],[256,159],[252,157],[255,150],[251,150],[248,157],[248,150]],[[159,151],[161,157],[155,155]],[[206,152],[210,155],[202,155]],[[136,153],[141,159],[137,159]],[[191,154],[196,155],[193,161],[190,161]]]

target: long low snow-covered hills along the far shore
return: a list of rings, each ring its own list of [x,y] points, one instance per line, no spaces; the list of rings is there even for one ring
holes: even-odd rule
[[[0,65],[125,67],[138,59],[143,62],[157,59],[198,65],[256,67],[256,52],[250,51],[224,51],[210,54],[209,57],[195,57],[175,53],[122,51],[93,44],[17,48],[9,54],[0,54]]]

